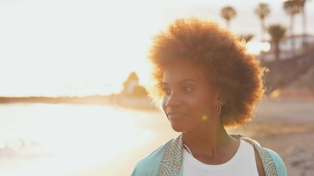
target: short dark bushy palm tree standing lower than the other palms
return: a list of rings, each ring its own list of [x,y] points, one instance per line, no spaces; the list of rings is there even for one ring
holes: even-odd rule
[[[285,37],[286,28],[280,24],[273,24],[267,28],[269,35],[271,36],[271,42],[275,46],[275,58],[279,61],[280,48],[279,43]]]

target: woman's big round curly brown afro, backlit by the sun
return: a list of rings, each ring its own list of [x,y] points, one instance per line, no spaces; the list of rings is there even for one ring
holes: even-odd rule
[[[177,19],[155,35],[148,55],[151,84],[145,88],[159,110],[164,68],[178,58],[209,71],[208,79],[224,102],[221,120],[225,127],[242,126],[254,118],[255,106],[266,98],[264,75],[268,69],[247,52],[243,40],[216,22],[195,17]]]

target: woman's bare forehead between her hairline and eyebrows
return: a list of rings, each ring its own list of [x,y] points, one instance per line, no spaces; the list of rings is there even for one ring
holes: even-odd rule
[[[177,60],[167,64],[164,69],[163,83],[175,83],[183,79],[194,79],[196,82],[205,82],[209,75],[204,66],[184,60]]]

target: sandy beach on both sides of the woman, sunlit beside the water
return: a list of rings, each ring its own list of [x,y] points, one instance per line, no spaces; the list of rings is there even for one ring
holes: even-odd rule
[[[161,117],[164,114],[161,112]],[[256,118],[246,127],[228,130],[257,140],[262,147],[272,149],[283,159],[288,176],[313,176],[314,173],[314,101],[268,100],[262,102]],[[135,162],[176,137],[167,118],[137,119],[140,128],[157,134],[154,140],[130,148],[98,167],[71,176],[128,176]],[[112,144],[114,145],[114,144]]]

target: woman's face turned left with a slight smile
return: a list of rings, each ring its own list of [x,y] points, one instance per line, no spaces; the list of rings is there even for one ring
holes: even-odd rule
[[[165,67],[162,107],[174,131],[193,131],[217,118],[218,97],[205,74],[202,66],[187,61]]]

